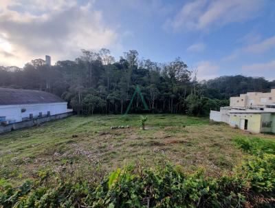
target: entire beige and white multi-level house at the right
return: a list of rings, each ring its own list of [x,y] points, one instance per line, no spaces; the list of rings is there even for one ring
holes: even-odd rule
[[[210,120],[228,123],[248,132],[275,133],[275,89],[271,92],[248,92],[230,98],[230,106],[211,111]]]

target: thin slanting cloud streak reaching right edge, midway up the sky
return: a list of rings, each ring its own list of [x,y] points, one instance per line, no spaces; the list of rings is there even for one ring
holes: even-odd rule
[[[275,48],[275,36],[264,39],[258,43],[252,43],[251,45],[247,45],[243,48],[238,48],[234,50],[232,54],[223,58],[223,60],[231,61],[244,53],[263,53],[272,50],[273,48]]]

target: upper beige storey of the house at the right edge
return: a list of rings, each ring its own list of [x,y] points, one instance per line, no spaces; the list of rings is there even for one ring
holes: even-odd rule
[[[271,92],[248,92],[238,97],[230,98],[230,107],[249,107],[275,103],[275,89]]]

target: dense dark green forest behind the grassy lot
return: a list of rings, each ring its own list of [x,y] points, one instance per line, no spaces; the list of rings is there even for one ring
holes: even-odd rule
[[[139,85],[150,112],[208,114],[229,104],[230,96],[250,91],[267,92],[275,81],[242,75],[197,81],[180,58],[170,63],[139,59],[135,50],[119,61],[107,49],[82,50],[75,61],[45,65],[34,59],[23,68],[0,66],[0,86],[43,90],[68,101],[78,114],[123,114]],[[137,94],[131,111],[144,112]]]

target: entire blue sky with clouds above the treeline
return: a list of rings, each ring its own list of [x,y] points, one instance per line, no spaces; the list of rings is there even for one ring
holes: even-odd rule
[[[199,80],[275,79],[274,0],[0,0],[0,65],[74,60],[108,48],[115,59],[176,57]]]

